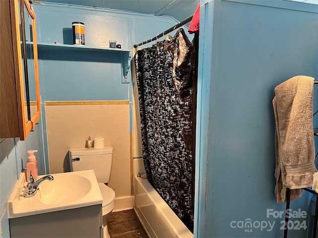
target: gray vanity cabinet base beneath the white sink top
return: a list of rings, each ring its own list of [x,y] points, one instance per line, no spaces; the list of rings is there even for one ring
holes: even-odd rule
[[[9,219],[11,238],[102,238],[101,204]]]

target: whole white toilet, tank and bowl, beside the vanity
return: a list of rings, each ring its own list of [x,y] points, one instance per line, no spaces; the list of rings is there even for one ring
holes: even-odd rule
[[[69,151],[71,171],[93,170],[103,197],[103,233],[104,238],[110,238],[106,217],[115,207],[115,192],[105,185],[110,179],[113,162],[113,148],[106,146],[96,148],[73,148]]]

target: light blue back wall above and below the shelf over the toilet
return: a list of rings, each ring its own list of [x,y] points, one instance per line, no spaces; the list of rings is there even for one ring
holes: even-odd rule
[[[35,11],[38,43],[72,44],[72,22],[81,21],[85,46],[109,47],[114,39],[131,50],[175,24],[170,17],[63,4],[46,3]],[[118,52],[39,48],[43,101],[129,100],[131,85],[121,83],[121,70]]]

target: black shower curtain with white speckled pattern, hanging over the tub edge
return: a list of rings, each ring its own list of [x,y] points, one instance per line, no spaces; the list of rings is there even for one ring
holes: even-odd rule
[[[170,42],[160,41],[135,56],[147,177],[191,231],[196,54],[195,44],[180,29]]]

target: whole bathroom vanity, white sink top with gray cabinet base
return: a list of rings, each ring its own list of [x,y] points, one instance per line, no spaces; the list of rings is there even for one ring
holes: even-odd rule
[[[11,238],[102,238],[102,196],[94,172],[52,176],[34,196],[24,197],[21,174],[8,199]]]

